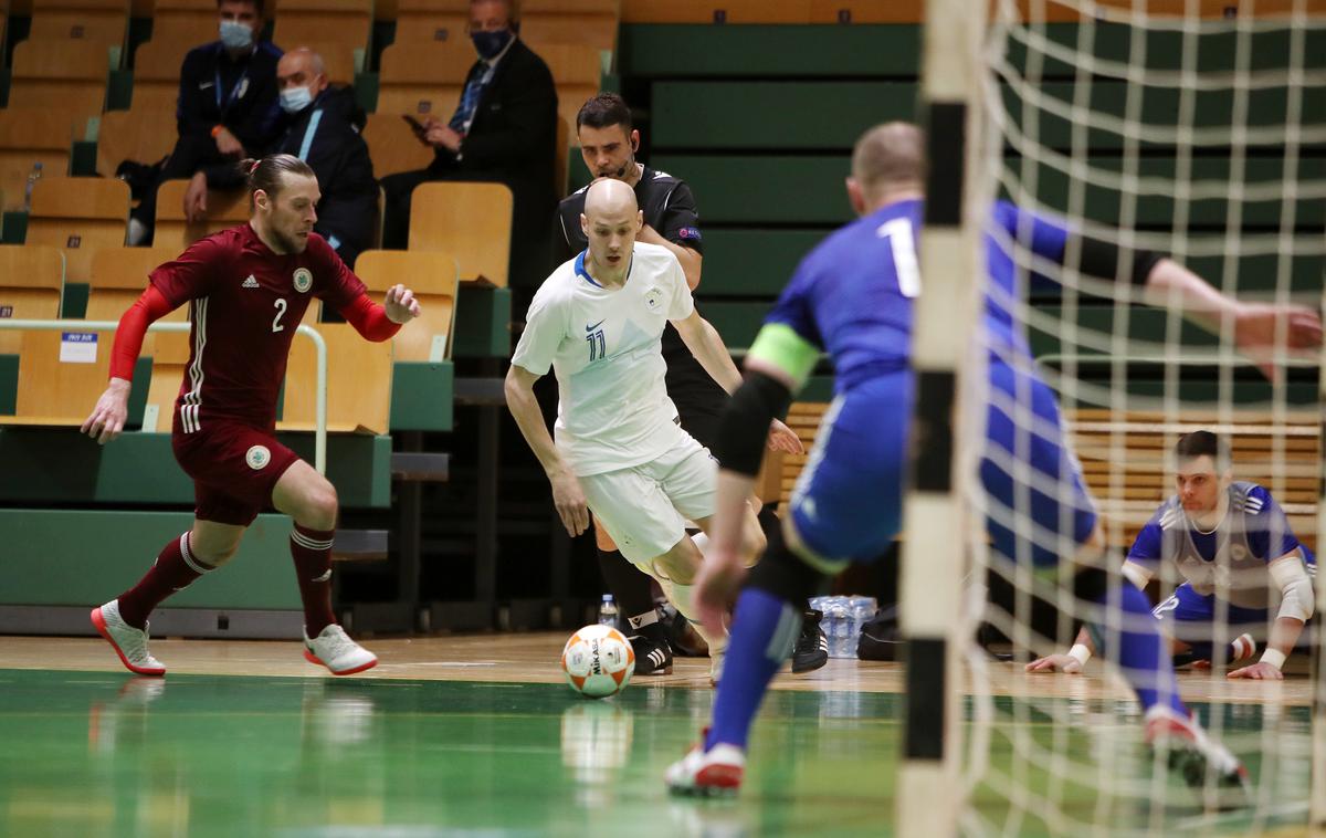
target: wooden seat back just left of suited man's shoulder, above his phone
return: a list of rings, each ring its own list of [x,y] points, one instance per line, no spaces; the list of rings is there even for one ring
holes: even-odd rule
[[[377,113],[450,119],[473,64],[468,38],[387,46],[382,50]]]

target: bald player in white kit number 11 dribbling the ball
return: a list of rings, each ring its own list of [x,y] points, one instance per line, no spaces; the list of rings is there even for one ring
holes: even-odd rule
[[[642,223],[629,186],[602,179],[590,187],[581,216],[589,248],[534,294],[507,374],[507,404],[548,473],[566,532],[585,532],[591,509],[622,554],[659,579],[690,618],[690,585],[701,553],[686,526],[690,520],[708,530],[717,463],[678,424],[663,382],[663,328],[671,322],[728,392],[741,374],[719,333],[696,313],[676,256],[635,241]],[[533,392],[549,367],[560,396],[556,442]],[[802,451],[777,420],[769,447]],[[744,558],[753,564],[764,549],[753,509],[745,525]],[[716,679],[725,638],[705,640]]]

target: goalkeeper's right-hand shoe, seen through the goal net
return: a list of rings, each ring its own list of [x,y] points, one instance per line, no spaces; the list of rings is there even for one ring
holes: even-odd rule
[[[1192,716],[1183,716],[1158,704],[1147,711],[1147,744],[1166,754],[1170,770],[1183,777],[1189,789],[1203,792],[1207,774],[1213,780],[1216,809],[1246,806],[1248,769],[1229,749],[1207,736]]]

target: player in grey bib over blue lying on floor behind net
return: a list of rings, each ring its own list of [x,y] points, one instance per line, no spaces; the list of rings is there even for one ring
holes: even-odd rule
[[[1233,479],[1229,449],[1215,434],[1185,434],[1174,453],[1177,493],[1138,533],[1123,575],[1146,589],[1162,562],[1168,562],[1184,578],[1152,611],[1170,628],[1176,664],[1209,662],[1216,642],[1229,643],[1227,662],[1244,663],[1257,651],[1256,638],[1265,638],[1261,660],[1236,668],[1229,678],[1280,680],[1285,659],[1313,615],[1315,558],[1299,544],[1270,492]],[[1280,594],[1274,615],[1272,591]],[[1236,632],[1241,634],[1229,642]],[[1094,651],[1083,628],[1066,655],[1041,658],[1026,670],[1081,672]]]

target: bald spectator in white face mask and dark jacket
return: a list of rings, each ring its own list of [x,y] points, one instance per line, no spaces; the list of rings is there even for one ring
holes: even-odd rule
[[[289,154],[313,168],[321,198],[313,232],[328,240],[349,267],[361,251],[373,245],[378,217],[378,182],[373,160],[359,131],[363,109],[353,88],[328,84],[322,57],[300,46],[281,56],[276,65],[285,131],[263,154]],[[203,217],[207,190],[237,188],[243,178],[231,163],[204,166],[194,174],[184,192],[184,215]]]

